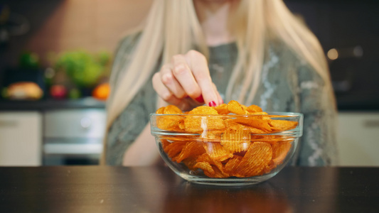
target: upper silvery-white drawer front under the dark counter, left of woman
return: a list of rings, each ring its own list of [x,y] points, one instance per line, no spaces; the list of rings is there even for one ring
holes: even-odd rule
[[[102,138],[105,132],[105,109],[70,109],[46,111],[44,138]]]

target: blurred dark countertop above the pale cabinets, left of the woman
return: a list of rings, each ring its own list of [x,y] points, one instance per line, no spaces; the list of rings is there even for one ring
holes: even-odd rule
[[[84,99],[42,99],[38,101],[0,100],[0,111],[45,111],[49,109],[105,109],[105,102]]]

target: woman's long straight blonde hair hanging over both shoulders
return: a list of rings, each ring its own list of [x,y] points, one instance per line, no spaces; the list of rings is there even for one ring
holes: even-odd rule
[[[265,43],[269,35],[283,40],[299,58],[309,62],[326,82],[324,94],[332,93],[329,68],[319,41],[282,0],[240,0],[232,21],[233,26],[230,26],[236,38],[238,58],[227,87],[226,99],[230,99],[243,76],[238,101],[245,104],[252,102],[260,83]],[[119,80],[117,88],[111,88],[107,130],[152,72],[156,71],[154,68],[161,56],[162,62],[169,62],[173,55],[185,54],[194,47],[208,58],[208,47],[193,0],[154,1],[132,59],[125,67],[125,75]],[[102,164],[105,163],[105,152]]]

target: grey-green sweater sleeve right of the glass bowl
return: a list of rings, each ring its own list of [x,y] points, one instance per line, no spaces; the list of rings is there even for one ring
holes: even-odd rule
[[[298,71],[304,130],[299,141],[297,165],[336,165],[337,117],[333,96],[325,92],[326,82],[309,65],[301,65]]]

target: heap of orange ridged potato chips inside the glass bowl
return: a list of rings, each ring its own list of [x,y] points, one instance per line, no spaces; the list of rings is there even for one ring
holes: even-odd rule
[[[218,107],[196,107],[182,112],[174,105],[161,107],[156,126],[188,134],[160,136],[166,155],[190,170],[201,169],[210,178],[248,178],[269,173],[286,158],[293,137],[270,135],[297,127],[297,121],[275,120],[256,105],[236,101]],[[216,115],[216,116],[215,116]]]

